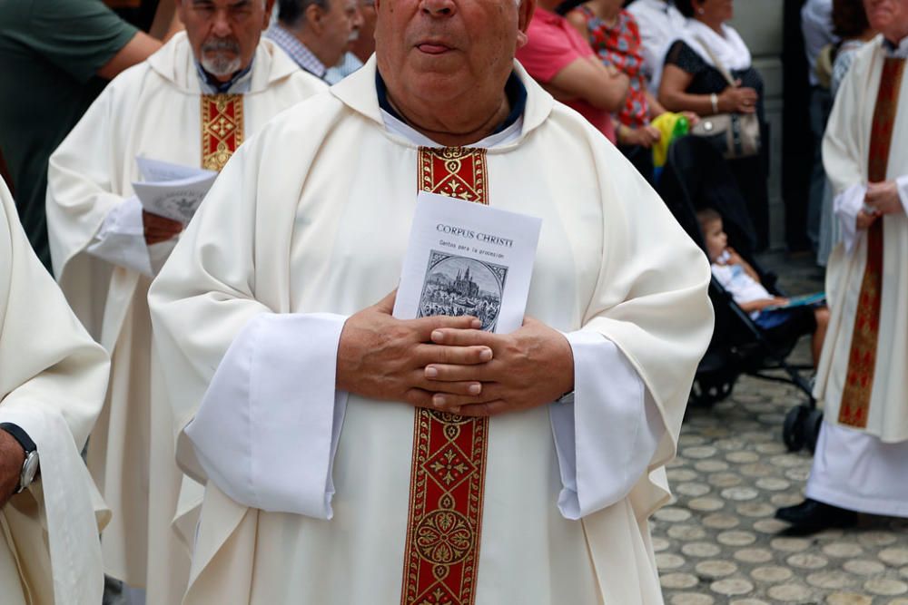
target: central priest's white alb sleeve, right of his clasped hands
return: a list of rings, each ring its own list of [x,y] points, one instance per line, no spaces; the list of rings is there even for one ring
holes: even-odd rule
[[[666,432],[646,385],[617,346],[595,332],[565,335],[574,353],[573,402],[549,405],[562,490],[577,520],[619,502],[646,473]]]

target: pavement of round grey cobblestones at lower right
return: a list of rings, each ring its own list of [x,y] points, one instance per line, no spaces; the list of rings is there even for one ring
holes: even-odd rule
[[[809,262],[786,269],[789,291],[822,288]],[[804,339],[792,359],[808,356]],[[804,537],[773,518],[804,497],[810,455],[782,443],[785,413],[803,399],[745,376],[725,402],[688,411],[668,471],[676,501],[653,520],[669,605],[908,605],[908,520],[862,515],[854,529]]]

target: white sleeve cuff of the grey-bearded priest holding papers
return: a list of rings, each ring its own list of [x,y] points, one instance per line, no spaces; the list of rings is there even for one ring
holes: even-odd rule
[[[98,229],[86,251],[107,262],[152,276],[152,263],[145,245],[142,203],[135,196],[117,204]]]

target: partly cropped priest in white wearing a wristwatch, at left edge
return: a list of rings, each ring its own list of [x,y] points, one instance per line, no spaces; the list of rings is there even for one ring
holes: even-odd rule
[[[32,251],[0,181],[0,602],[100,603],[110,518],[79,453],[108,359]],[[15,494],[14,494],[15,492]]]

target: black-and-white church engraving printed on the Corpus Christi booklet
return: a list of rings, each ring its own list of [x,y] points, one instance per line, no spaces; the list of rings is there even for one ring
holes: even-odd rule
[[[419,297],[419,317],[471,315],[494,332],[508,268],[431,250]]]

